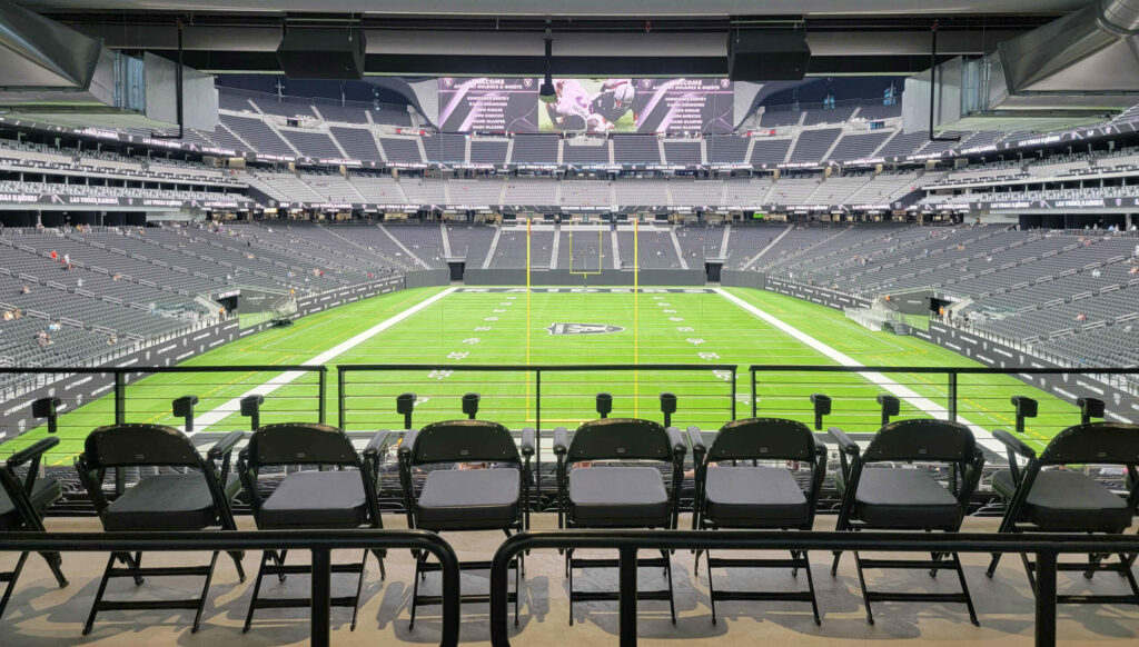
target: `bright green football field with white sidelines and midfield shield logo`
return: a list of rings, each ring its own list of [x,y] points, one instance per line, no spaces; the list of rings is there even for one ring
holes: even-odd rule
[[[353,303],[247,336],[183,366],[255,365],[329,366],[326,421],[350,431],[402,427],[395,412],[400,393],[417,395],[413,423],[421,426],[462,417],[460,396],[477,392],[483,399],[480,418],[510,428],[540,421],[543,432],[596,418],[593,396],[603,391],[614,396],[613,416],[657,420],[659,393],[675,393],[674,425],[715,429],[731,419],[734,407],[736,417],[751,416],[749,365],[980,366],[915,337],[874,333],[838,311],[768,292],[472,287],[409,289]],[[350,370],[341,394],[334,368],[339,365],[432,366]],[[478,368],[491,365],[515,368]],[[590,368],[599,365],[622,368]],[[527,366],[543,367],[540,384]],[[947,378],[935,374],[777,371],[760,372],[757,382],[760,416],[811,424],[809,396],[825,393],[834,401],[825,425],[851,432],[878,427],[875,396],[880,393],[899,396],[906,417],[944,418],[949,406]],[[235,369],[133,382],[126,390],[126,421],[179,426],[171,400],[194,394],[199,398],[195,433],[245,429],[248,419],[237,401],[248,393],[265,395],[262,424],[317,420],[317,374]],[[1040,401],[1040,416],[1029,420],[1025,437],[1034,447],[1079,423],[1075,407],[1013,377],[992,375],[960,377],[959,420],[994,448],[989,432],[1013,427],[1009,398],[1016,394]],[[69,464],[91,428],[113,421],[113,411],[112,398],[104,396],[64,415],[63,442],[49,462]],[[5,443],[0,454],[43,434],[38,428]]]

